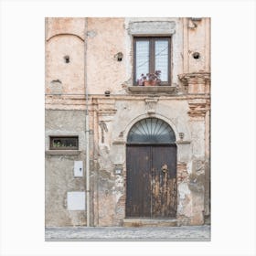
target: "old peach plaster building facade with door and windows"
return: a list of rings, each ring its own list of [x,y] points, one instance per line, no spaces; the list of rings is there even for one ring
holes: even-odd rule
[[[209,221],[210,18],[46,18],[45,103],[46,226]]]

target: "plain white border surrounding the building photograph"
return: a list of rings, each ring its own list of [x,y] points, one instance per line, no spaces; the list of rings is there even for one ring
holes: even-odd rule
[[[160,13],[212,18],[212,240],[45,242],[45,16]],[[255,31],[253,0],[2,1],[0,254],[255,255]]]

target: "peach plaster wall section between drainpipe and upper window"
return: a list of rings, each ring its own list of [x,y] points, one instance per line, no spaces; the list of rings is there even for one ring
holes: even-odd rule
[[[87,73],[92,94],[120,93],[126,79],[123,18],[88,18]],[[116,54],[123,53],[117,61]]]

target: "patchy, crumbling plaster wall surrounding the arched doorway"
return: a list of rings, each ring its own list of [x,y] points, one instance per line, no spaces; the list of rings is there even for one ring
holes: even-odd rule
[[[114,114],[100,116],[107,130],[98,126],[98,137],[103,133],[104,142],[95,140],[98,148],[97,161],[98,191],[94,191],[94,211],[99,211],[96,225],[121,225],[125,218],[125,185],[126,185],[126,137],[137,121],[146,117],[157,117],[169,123],[176,133],[177,140],[177,219],[180,225],[200,225],[204,222],[204,154],[205,128],[201,117],[192,120],[187,112],[187,99],[162,97],[155,103],[155,113],[148,113],[147,97],[137,99],[110,100],[99,99],[98,109],[108,103],[108,111]],[[110,107],[112,105],[112,107]],[[95,121],[95,120],[94,120]],[[97,122],[97,121],[96,121]],[[184,133],[183,141],[179,133]],[[121,175],[114,173],[115,166],[123,169]],[[181,166],[181,167],[180,167]]]

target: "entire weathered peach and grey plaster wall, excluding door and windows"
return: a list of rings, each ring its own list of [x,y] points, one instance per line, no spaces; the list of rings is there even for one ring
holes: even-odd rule
[[[171,31],[172,86],[176,87],[171,95],[126,91],[133,85],[133,36],[142,29],[131,24],[144,21],[162,22]],[[126,137],[133,123],[149,116],[165,120],[176,133],[178,224],[200,225],[203,215],[209,215],[210,24],[208,18],[195,23],[197,27],[188,18],[167,17],[47,19],[46,150],[49,135],[73,134],[80,136],[81,152],[46,155],[46,225],[86,223],[86,211],[68,211],[65,202],[67,191],[85,190],[84,177],[72,176],[73,161],[85,159],[84,39],[87,86],[93,94],[89,101],[91,224],[123,224]],[[156,27],[155,36],[168,35],[163,27]],[[143,29],[150,35],[150,27],[148,32]],[[195,51],[201,58],[192,57]],[[116,59],[118,52],[123,53],[122,61]],[[69,63],[63,59],[66,55]],[[104,91],[111,91],[111,96],[104,97]],[[179,133],[184,133],[183,140]],[[122,174],[115,174],[117,167]]]

